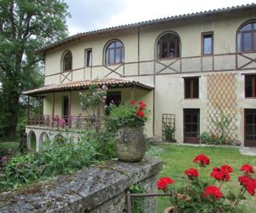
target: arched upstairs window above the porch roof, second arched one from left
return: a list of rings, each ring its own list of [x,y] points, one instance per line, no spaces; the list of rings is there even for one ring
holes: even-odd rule
[[[119,41],[108,44],[105,52],[105,63],[107,65],[120,64],[124,61],[124,45]]]

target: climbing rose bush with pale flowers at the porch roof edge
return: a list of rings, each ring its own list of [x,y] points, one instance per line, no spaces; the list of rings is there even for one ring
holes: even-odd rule
[[[107,89],[105,85],[103,85],[102,88],[96,85],[90,85],[85,93],[80,93],[82,110],[85,111],[88,116],[95,116],[96,107],[106,101]],[[90,114],[90,110],[92,110],[92,114]]]

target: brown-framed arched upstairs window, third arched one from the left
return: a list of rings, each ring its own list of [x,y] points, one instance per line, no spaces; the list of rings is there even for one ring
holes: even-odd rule
[[[179,37],[172,32],[168,32],[157,42],[157,56],[159,59],[177,58],[180,56]]]

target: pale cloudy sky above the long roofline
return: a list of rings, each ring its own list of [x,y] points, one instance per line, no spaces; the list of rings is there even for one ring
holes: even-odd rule
[[[255,3],[247,0],[64,0],[72,18],[69,35],[131,24],[176,14],[188,14]]]

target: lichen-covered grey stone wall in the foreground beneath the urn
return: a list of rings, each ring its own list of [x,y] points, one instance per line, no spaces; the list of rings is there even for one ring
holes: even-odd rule
[[[162,162],[143,158],[139,163],[111,160],[67,176],[0,193],[0,212],[125,212],[125,192],[140,184],[155,193]],[[144,199],[144,212],[156,212],[155,198]]]

